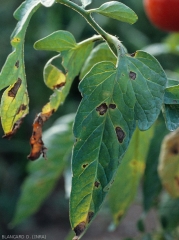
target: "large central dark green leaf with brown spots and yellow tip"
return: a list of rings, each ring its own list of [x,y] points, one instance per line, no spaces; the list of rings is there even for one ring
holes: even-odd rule
[[[110,187],[136,123],[148,129],[163,103],[166,76],[155,58],[139,51],[96,64],[80,83],[72,159],[70,219],[77,236],[87,228]]]

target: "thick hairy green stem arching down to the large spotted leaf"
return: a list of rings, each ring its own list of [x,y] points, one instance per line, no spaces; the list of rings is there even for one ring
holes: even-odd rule
[[[74,11],[78,12],[80,15],[82,15],[85,20],[88,22],[89,25],[99,34],[102,36],[102,38],[108,43],[109,47],[113,51],[113,53],[116,55],[119,49],[120,41],[117,37],[110,35],[109,33],[105,32],[104,29],[102,29],[95,20],[91,17],[90,11],[85,10],[81,6],[77,5],[74,2],[68,1],[68,0],[56,0],[57,3],[61,3]]]

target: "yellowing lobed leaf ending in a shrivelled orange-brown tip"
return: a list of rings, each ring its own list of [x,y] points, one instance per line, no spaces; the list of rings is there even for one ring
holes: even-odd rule
[[[74,42],[75,40],[72,34],[66,31],[58,31],[47,36],[45,40],[39,40],[37,44],[35,44],[39,49],[45,50],[52,50],[51,46],[53,46],[53,50],[55,51],[59,51],[59,46],[61,46],[61,55],[50,59],[44,68],[44,81],[48,87],[53,89],[54,93],[50,97],[50,101],[43,107],[42,112],[39,113],[34,120],[32,136],[30,138],[31,152],[28,155],[28,159],[36,160],[41,154],[45,157],[46,147],[42,140],[42,126],[58,107],[64,103],[74,78],[79,74],[86,58],[92,50],[93,39],[94,38],[91,38],[89,41],[77,44]],[[61,45],[59,45],[59,43],[61,43]],[[52,61],[60,56],[62,56],[62,65],[66,74],[52,65]],[[39,122],[41,123],[40,125]],[[34,139],[34,132],[37,133],[38,138],[36,137]]]

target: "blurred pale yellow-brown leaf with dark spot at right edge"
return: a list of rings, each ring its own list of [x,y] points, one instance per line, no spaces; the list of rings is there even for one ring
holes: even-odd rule
[[[168,134],[162,143],[158,172],[162,185],[172,197],[179,197],[179,130]]]

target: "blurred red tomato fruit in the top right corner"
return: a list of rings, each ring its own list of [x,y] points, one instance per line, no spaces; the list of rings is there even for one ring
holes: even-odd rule
[[[156,27],[179,32],[179,0],[143,0],[149,20]]]

